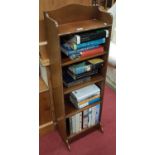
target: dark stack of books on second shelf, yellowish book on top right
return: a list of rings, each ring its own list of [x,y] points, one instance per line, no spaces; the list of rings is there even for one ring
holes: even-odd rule
[[[91,79],[102,67],[104,60],[94,58],[69,66],[63,71],[63,83],[66,87],[71,87]]]

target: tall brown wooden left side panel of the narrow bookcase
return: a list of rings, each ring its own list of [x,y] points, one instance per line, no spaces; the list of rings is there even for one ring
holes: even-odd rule
[[[66,126],[62,118],[65,117],[62,70],[61,70],[61,55],[59,47],[58,29],[53,21],[48,17],[45,18],[47,29],[47,51],[50,59],[50,80],[52,84],[54,111],[58,130],[62,138],[66,139]]]

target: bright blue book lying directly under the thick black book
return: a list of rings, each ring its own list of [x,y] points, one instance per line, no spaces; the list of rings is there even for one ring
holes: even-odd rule
[[[105,38],[85,42],[85,43],[82,43],[82,44],[72,43],[71,48],[73,50],[77,50],[77,49],[85,48],[87,46],[96,46],[96,45],[100,45],[100,44],[103,44],[103,43],[105,43]]]

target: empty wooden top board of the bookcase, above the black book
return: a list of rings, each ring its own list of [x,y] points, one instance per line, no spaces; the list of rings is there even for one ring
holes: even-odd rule
[[[97,19],[76,21],[72,23],[59,25],[58,35],[63,36],[63,35],[68,35],[72,33],[89,31],[93,29],[106,28],[108,26],[111,26],[111,25]]]

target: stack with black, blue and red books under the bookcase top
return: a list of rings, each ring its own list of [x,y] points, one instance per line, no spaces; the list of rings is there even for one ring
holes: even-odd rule
[[[103,54],[109,30],[98,29],[62,38],[61,51],[70,59]]]

